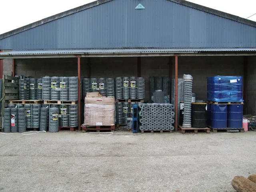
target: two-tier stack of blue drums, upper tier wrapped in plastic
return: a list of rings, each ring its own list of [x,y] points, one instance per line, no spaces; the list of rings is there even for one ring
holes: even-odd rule
[[[241,76],[207,78],[207,126],[214,129],[242,129]]]

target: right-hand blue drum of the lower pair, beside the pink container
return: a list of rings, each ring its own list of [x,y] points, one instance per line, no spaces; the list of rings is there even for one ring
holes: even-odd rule
[[[228,128],[241,129],[243,126],[243,105],[228,105]]]

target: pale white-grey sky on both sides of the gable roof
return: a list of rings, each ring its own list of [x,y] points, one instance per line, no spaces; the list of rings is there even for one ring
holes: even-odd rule
[[[0,34],[94,0],[0,0]],[[256,13],[255,0],[189,0],[247,18]],[[249,18],[256,21],[256,15]]]

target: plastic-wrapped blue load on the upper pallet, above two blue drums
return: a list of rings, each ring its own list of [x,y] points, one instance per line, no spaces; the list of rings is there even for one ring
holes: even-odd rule
[[[207,100],[243,102],[242,76],[207,77]]]

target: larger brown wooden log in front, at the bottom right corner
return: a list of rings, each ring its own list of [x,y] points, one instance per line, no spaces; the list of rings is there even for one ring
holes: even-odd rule
[[[235,176],[231,184],[238,192],[256,192],[256,184],[243,176]]]

